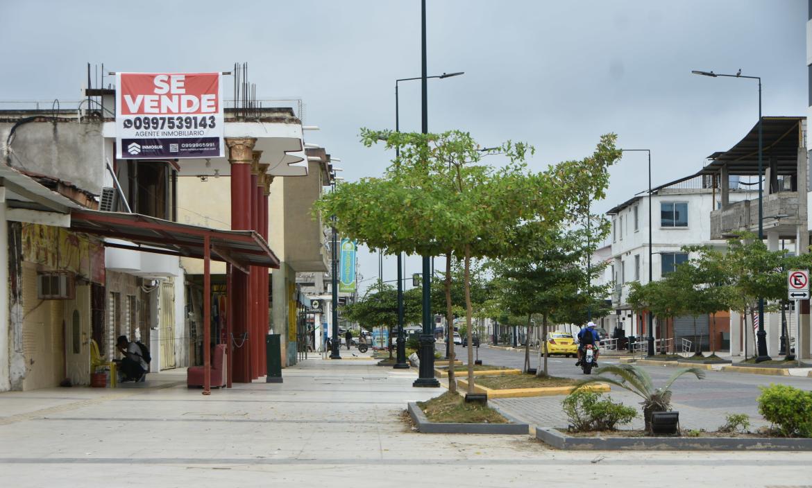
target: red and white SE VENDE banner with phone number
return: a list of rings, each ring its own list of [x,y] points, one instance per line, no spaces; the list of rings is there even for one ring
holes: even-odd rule
[[[116,73],[122,159],[222,157],[220,73]]]

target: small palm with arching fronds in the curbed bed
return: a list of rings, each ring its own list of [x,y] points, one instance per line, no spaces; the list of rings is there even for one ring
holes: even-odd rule
[[[699,368],[681,368],[674,371],[662,387],[654,387],[651,376],[641,367],[631,364],[620,364],[618,366],[603,366],[595,370],[596,375],[590,379],[579,382],[573,392],[591,383],[609,383],[617,387],[624,388],[635,395],[640,396],[643,401],[643,419],[646,422],[646,432],[651,432],[651,414],[654,412],[667,412],[671,409],[671,385],[682,375],[692,373],[698,379],[705,378],[705,371]],[[611,374],[620,379],[607,378],[604,374]]]

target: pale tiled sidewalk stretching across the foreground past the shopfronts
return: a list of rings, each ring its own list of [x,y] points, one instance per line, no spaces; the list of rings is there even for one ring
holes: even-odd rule
[[[150,375],[145,387],[2,393],[2,484],[382,488],[589,479],[647,488],[651,480],[667,487],[713,479],[746,488],[810,481],[812,453],[558,452],[529,436],[420,434],[404,422],[406,403],[445,390],[414,388],[414,370],[371,360],[311,358],[283,377],[211,396],[173,373]],[[646,476],[628,476],[644,468]]]

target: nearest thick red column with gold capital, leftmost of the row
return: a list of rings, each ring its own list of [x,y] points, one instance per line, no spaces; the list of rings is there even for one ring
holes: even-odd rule
[[[231,229],[251,229],[251,163],[253,162],[253,147],[257,139],[228,138],[229,156],[231,163]],[[234,350],[233,380],[236,383],[250,383],[250,346],[253,337],[246,334],[250,315],[251,287],[248,275],[236,268],[232,268],[231,284],[234,288],[232,301],[231,330],[234,332],[236,344]],[[239,347],[237,347],[239,346]],[[205,345],[209,347],[208,344]]]

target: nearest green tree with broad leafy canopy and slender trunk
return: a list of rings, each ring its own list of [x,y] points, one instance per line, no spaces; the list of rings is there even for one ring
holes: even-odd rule
[[[339,232],[373,249],[462,255],[469,333],[472,257],[513,255],[520,251],[516,243],[527,226],[551,228],[581,213],[585,199],[602,198],[607,166],[620,156],[615,135],[605,135],[593,156],[532,173],[524,161],[533,148],[524,143],[504,143],[499,152],[510,162],[494,169],[480,164],[479,146],[460,131],[436,135],[362,130],[361,136],[367,145],[386,140],[387,148],[400,149],[400,156],[384,178],[339,186],[323,195],[314,211],[335,215]],[[473,388],[470,349],[469,380]]]

